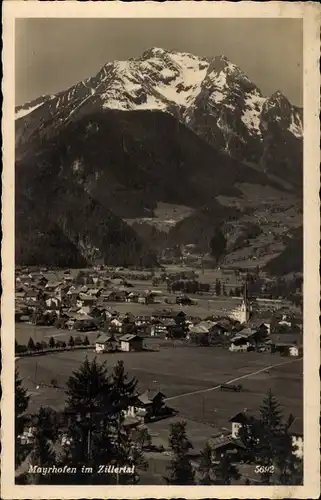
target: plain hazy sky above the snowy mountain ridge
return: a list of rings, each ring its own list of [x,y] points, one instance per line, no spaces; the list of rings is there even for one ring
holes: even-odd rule
[[[240,66],[263,95],[281,90],[302,106],[303,28],[299,19],[18,19],[16,105],[65,90],[107,62],[150,47]]]

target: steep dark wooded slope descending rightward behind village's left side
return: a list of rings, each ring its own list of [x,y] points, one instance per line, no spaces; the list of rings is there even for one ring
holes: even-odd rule
[[[135,231],[73,178],[70,164],[64,168],[55,144],[16,163],[16,262],[155,265]]]

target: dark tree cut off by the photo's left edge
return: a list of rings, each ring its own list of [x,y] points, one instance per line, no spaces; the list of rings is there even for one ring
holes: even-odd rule
[[[20,436],[27,423],[26,410],[29,404],[29,396],[22,385],[19,372],[15,370],[15,465],[16,468],[23,462],[27,451],[21,444]]]

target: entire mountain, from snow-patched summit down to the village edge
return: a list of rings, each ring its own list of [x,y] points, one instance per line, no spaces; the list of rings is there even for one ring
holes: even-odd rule
[[[16,262],[153,266],[219,228],[223,264],[301,271],[302,122],[226,57],[160,48],[18,106]]]

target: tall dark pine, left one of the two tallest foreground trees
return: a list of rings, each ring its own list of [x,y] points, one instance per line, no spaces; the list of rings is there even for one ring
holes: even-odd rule
[[[96,358],[84,363],[67,381],[65,414],[71,445],[64,451],[62,462],[77,467],[79,484],[110,484],[112,475],[81,474],[81,467],[93,467],[97,463],[112,463],[116,450],[111,423],[114,418],[112,405],[113,387],[108,377],[106,363]],[[65,478],[68,480],[68,478]]]

